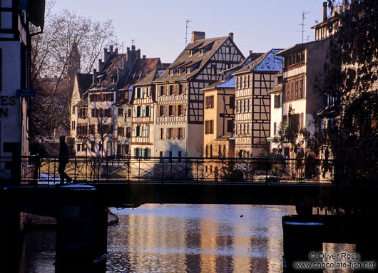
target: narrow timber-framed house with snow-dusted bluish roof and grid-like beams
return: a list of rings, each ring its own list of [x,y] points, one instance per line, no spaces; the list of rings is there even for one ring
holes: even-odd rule
[[[235,153],[238,157],[267,155],[270,135],[270,96],[274,76],[282,70],[280,49],[271,49],[233,73],[235,93]]]

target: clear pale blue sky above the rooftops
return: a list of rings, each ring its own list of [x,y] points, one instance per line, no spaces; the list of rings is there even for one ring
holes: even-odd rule
[[[191,31],[205,31],[206,38],[228,36],[246,56],[249,50],[266,52],[302,42],[302,11],[305,41],[315,40],[310,29],[322,21],[325,0],[56,0],[53,11],[75,11],[94,21],[113,20],[118,43],[124,51],[135,40],[147,57],[160,57],[165,63],[175,60],[185,47],[185,21]],[[307,40],[308,36],[308,40]],[[121,48],[119,48],[121,51]]]

